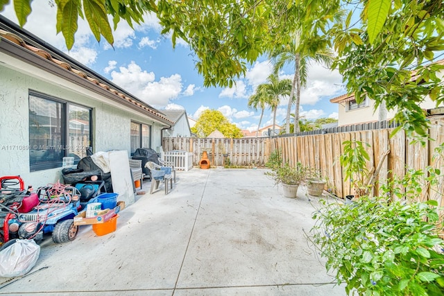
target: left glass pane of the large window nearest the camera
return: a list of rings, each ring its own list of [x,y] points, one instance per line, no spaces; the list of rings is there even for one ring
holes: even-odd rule
[[[65,105],[29,96],[29,162],[31,171],[62,166],[65,156]]]

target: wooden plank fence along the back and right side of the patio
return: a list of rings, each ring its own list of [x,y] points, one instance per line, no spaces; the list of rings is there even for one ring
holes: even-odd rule
[[[425,146],[412,143],[402,130],[390,137],[393,128],[389,128],[278,138],[165,138],[163,148],[165,151],[184,150],[193,153],[194,166],[198,165],[203,151],[206,150],[212,166],[223,166],[225,163],[245,167],[264,166],[270,153],[280,148],[285,162],[293,166],[300,162],[304,166],[315,168],[327,177],[332,193],[344,197],[353,195],[353,190],[350,180],[343,180],[343,169],[339,163],[339,155],[343,153],[342,143],[348,140],[362,141],[370,145],[366,147],[370,156],[368,170],[381,166],[374,189],[374,194],[377,195],[381,184],[394,176],[404,177],[407,169],[424,170],[427,166],[435,166],[444,171],[443,159],[433,159],[435,148],[444,143],[444,116],[429,119],[432,123],[429,137],[433,141],[427,141]],[[379,164],[388,149],[390,152],[382,164]],[[434,199],[444,206],[443,187],[443,180],[438,180],[438,185],[422,190],[420,198]]]

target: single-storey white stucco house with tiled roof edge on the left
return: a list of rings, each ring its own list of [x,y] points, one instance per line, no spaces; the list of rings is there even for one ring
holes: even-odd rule
[[[0,176],[43,186],[62,157],[162,145],[164,114],[0,16]]]

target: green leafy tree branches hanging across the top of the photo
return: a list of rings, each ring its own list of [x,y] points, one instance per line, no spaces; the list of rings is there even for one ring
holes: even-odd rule
[[[0,8],[10,2],[0,0]],[[23,26],[30,1],[13,2],[22,8],[16,13]],[[110,20],[104,13],[111,16],[114,28],[119,21],[133,26],[141,24],[147,13],[155,14],[162,33],[171,36],[174,46],[178,39],[189,44],[206,87],[231,87],[244,77],[250,64],[284,49],[293,41],[295,32],[302,30],[297,48],[301,64],[305,50],[309,56],[314,55],[314,49],[321,49],[321,45],[334,50],[332,67],[343,76],[347,92],[355,94],[358,100],[366,96],[375,101],[376,107],[385,102],[388,111],[396,112],[395,120],[402,123],[407,134],[426,137],[429,124],[419,107],[426,97],[432,98],[436,105],[444,103],[443,83],[437,75],[441,69],[433,66],[443,58],[442,0],[55,0],[55,3],[56,28],[63,33],[69,49],[74,44],[78,15],[85,15],[97,40],[100,34],[112,43]],[[343,19],[342,15],[347,17]],[[304,77],[300,78],[302,82]],[[287,122],[290,113],[287,112]]]

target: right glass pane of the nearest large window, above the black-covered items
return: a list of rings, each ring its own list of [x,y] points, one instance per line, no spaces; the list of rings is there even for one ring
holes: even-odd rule
[[[74,160],[86,157],[86,150],[91,145],[91,110],[85,107],[69,105],[68,156]]]

